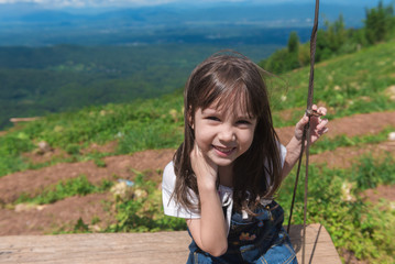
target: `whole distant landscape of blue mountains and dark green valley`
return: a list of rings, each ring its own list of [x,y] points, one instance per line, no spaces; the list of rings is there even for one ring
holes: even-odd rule
[[[323,3],[361,24],[363,7]],[[259,62],[296,31],[310,35],[311,3],[163,4],[47,9],[0,4],[0,129],[9,119],[154,98],[180,88],[196,64],[222,48]],[[321,23],[322,24],[322,23]]]

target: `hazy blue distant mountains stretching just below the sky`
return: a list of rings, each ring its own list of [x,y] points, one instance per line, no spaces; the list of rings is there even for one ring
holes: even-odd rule
[[[343,14],[348,28],[358,28],[362,25],[364,8],[322,3],[320,13],[321,25]],[[311,3],[169,3],[111,9],[1,4],[0,45],[136,45],[188,43],[188,38],[195,43],[226,38],[251,42],[253,37],[240,38],[270,30],[310,29],[312,19]],[[303,41],[307,35],[301,35]]]

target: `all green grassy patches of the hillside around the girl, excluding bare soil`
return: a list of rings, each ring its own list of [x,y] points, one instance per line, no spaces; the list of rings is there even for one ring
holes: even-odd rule
[[[395,110],[388,96],[388,87],[395,84],[395,43],[382,43],[362,48],[355,54],[339,56],[316,66],[315,101],[326,105],[330,120],[355,113]],[[286,73],[283,79],[268,79],[276,128],[293,125],[306,105],[308,68]],[[285,80],[285,81],[284,81]],[[283,120],[284,110],[295,114]],[[369,125],[369,124],[365,124]],[[360,146],[366,143],[386,141],[387,131],[375,135],[326,139],[317,143],[316,153],[336,151],[339,146]],[[59,162],[92,160],[102,166],[105,155],[132,154],[154,148],[175,148],[183,140],[183,95],[176,89],[154,99],[136,100],[132,103],[110,103],[87,107],[78,111],[48,114],[39,121],[11,128],[0,136],[0,172],[8,175],[28,168],[40,168]],[[53,160],[46,164],[33,165],[22,156],[32,152],[40,141],[69,154],[66,160]],[[114,153],[83,154],[92,143],[105,144],[118,141]],[[352,252],[359,260],[370,263],[394,263],[393,234],[395,211],[386,200],[378,205],[365,204],[360,194],[378,185],[395,184],[395,160],[375,160],[363,156],[352,168],[331,168],[311,165],[308,222],[320,222],[329,231],[339,253]],[[139,199],[119,199],[116,202],[118,223],[106,231],[157,231],[185,229],[185,222],[163,216],[161,191],[155,183],[144,179],[144,173],[135,179],[135,189],[145,191]],[[278,200],[288,210],[293,177],[279,191]],[[303,183],[303,179],[300,180]],[[352,199],[343,198],[343,184],[352,187]],[[67,196],[106,191],[109,183],[91,186],[84,177],[77,182],[59,183],[62,196],[51,191],[31,202],[45,204]],[[78,190],[80,189],[80,190]],[[299,189],[303,189],[300,186]],[[81,191],[81,193],[78,193]],[[84,193],[85,191],[85,193]],[[61,191],[58,191],[61,193]],[[67,195],[68,194],[68,195]],[[298,193],[294,223],[301,222],[301,191]],[[29,201],[23,196],[20,201]],[[84,222],[76,231],[88,231]]]

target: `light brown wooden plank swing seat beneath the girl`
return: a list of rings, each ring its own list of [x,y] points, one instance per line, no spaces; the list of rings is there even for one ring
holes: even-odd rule
[[[305,263],[341,264],[320,224],[308,226]],[[303,227],[290,237],[301,263]],[[0,237],[0,263],[185,263],[190,238],[185,231]]]

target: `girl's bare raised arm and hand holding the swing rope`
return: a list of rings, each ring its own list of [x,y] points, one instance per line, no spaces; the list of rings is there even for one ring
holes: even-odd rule
[[[322,116],[327,114],[327,109],[320,107],[317,109],[317,106],[314,105],[312,110],[317,110],[318,113]],[[294,165],[299,158],[300,147],[301,147],[301,136],[305,124],[308,123],[308,117],[306,114],[300,119],[300,121],[296,124],[295,134],[290,139],[289,143],[286,145],[287,154],[284,161],[284,167],[282,172],[283,179],[289,174],[293,169]],[[323,133],[328,132],[328,120],[321,119],[320,117],[312,116],[310,118],[310,141],[311,143],[316,142]]]

